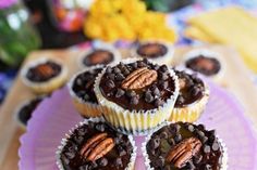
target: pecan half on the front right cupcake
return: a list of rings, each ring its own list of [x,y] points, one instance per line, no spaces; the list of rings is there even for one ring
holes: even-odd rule
[[[201,147],[201,143],[196,138],[185,139],[171,148],[167,156],[167,161],[174,164],[176,168],[182,168]]]

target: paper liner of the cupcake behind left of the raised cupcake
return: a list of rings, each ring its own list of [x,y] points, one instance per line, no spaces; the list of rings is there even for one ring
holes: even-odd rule
[[[103,68],[105,66],[103,65],[95,65],[95,66],[91,66],[91,67],[88,67],[88,68],[85,68],[83,69],[82,71],[77,73],[76,75],[74,75],[70,81],[68,82],[68,88],[69,88],[69,92],[70,92],[70,95],[72,97],[72,101],[73,101],[73,104],[76,108],[76,110],[83,116],[83,117],[99,117],[101,116],[101,110],[100,110],[100,107],[98,104],[96,103],[91,103],[91,102],[86,102],[84,100],[82,100],[81,97],[78,97],[76,95],[76,93],[73,91],[72,87],[73,87],[73,83],[76,79],[76,77],[85,71],[89,71],[89,70],[93,70],[93,69],[97,69],[97,68]]]

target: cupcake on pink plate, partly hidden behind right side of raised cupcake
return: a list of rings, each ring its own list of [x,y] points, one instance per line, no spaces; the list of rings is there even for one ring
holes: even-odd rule
[[[205,109],[209,99],[209,88],[196,75],[175,70],[180,92],[169,121],[196,121]]]

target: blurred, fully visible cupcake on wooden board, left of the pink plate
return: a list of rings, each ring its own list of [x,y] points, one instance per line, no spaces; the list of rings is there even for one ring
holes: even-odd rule
[[[22,80],[36,93],[51,93],[61,88],[68,79],[68,68],[58,61],[39,58],[22,69]]]

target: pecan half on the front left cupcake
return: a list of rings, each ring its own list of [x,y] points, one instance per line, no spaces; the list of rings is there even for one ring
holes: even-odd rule
[[[99,133],[90,138],[82,147],[79,154],[87,161],[95,161],[103,157],[114,147],[114,141],[107,133]]]

